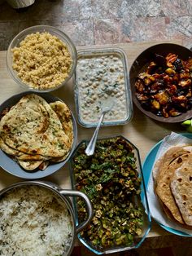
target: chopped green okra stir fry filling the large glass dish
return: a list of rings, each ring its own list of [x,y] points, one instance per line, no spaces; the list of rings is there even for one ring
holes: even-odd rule
[[[76,189],[85,192],[94,206],[94,218],[81,236],[97,249],[133,244],[142,234],[141,179],[132,146],[123,138],[103,139],[94,156],[85,155],[85,143],[73,157]],[[86,217],[78,200],[78,218]]]

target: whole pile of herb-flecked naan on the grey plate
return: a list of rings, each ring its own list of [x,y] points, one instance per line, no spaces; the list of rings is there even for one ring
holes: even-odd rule
[[[71,112],[60,101],[48,104],[39,95],[24,95],[0,121],[0,147],[25,170],[63,161],[72,142]]]

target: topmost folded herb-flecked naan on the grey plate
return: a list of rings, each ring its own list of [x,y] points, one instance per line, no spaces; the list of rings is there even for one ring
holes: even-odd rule
[[[70,148],[59,117],[38,95],[25,95],[0,121],[0,136],[28,154],[63,157]]]

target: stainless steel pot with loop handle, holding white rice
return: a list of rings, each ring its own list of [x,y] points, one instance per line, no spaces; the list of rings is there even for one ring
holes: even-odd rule
[[[71,241],[71,244],[68,246],[67,251],[63,253],[63,256],[70,255],[74,247],[76,234],[81,232],[81,230],[87,226],[87,224],[90,222],[94,214],[93,207],[91,205],[91,202],[89,201],[88,196],[86,196],[85,193],[83,192],[59,188],[55,183],[50,183],[45,181],[43,182],[42,181],[24,181],[20,183],[14,183],[11,186],[2,189],[2,191],[0,191],[0,200],[2,196],[5,196],[5,194],[7,192],[10,192],[12,189],[26,187],[26,186],[37,186],[40,188],[46,188],[48,191],[53,192],[56,196],[59,196],[59,198],[63,201],[63,205],[67,206],[71,216],[71,220],[72,220],[72,241]],[[73,209],[72,209],[72,203],[69,200],[68,196],[80,196],[85,201],[88,217],[83,223],[79,223],[78,225],[76,224]],[[37,255],[38,255],[38,251],[37,251]]]

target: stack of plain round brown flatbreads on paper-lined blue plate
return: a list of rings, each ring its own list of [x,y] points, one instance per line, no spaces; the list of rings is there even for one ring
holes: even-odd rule
[[[169,148],[156,162],[153,176],[168,218],[192,227],[192,146]]]

